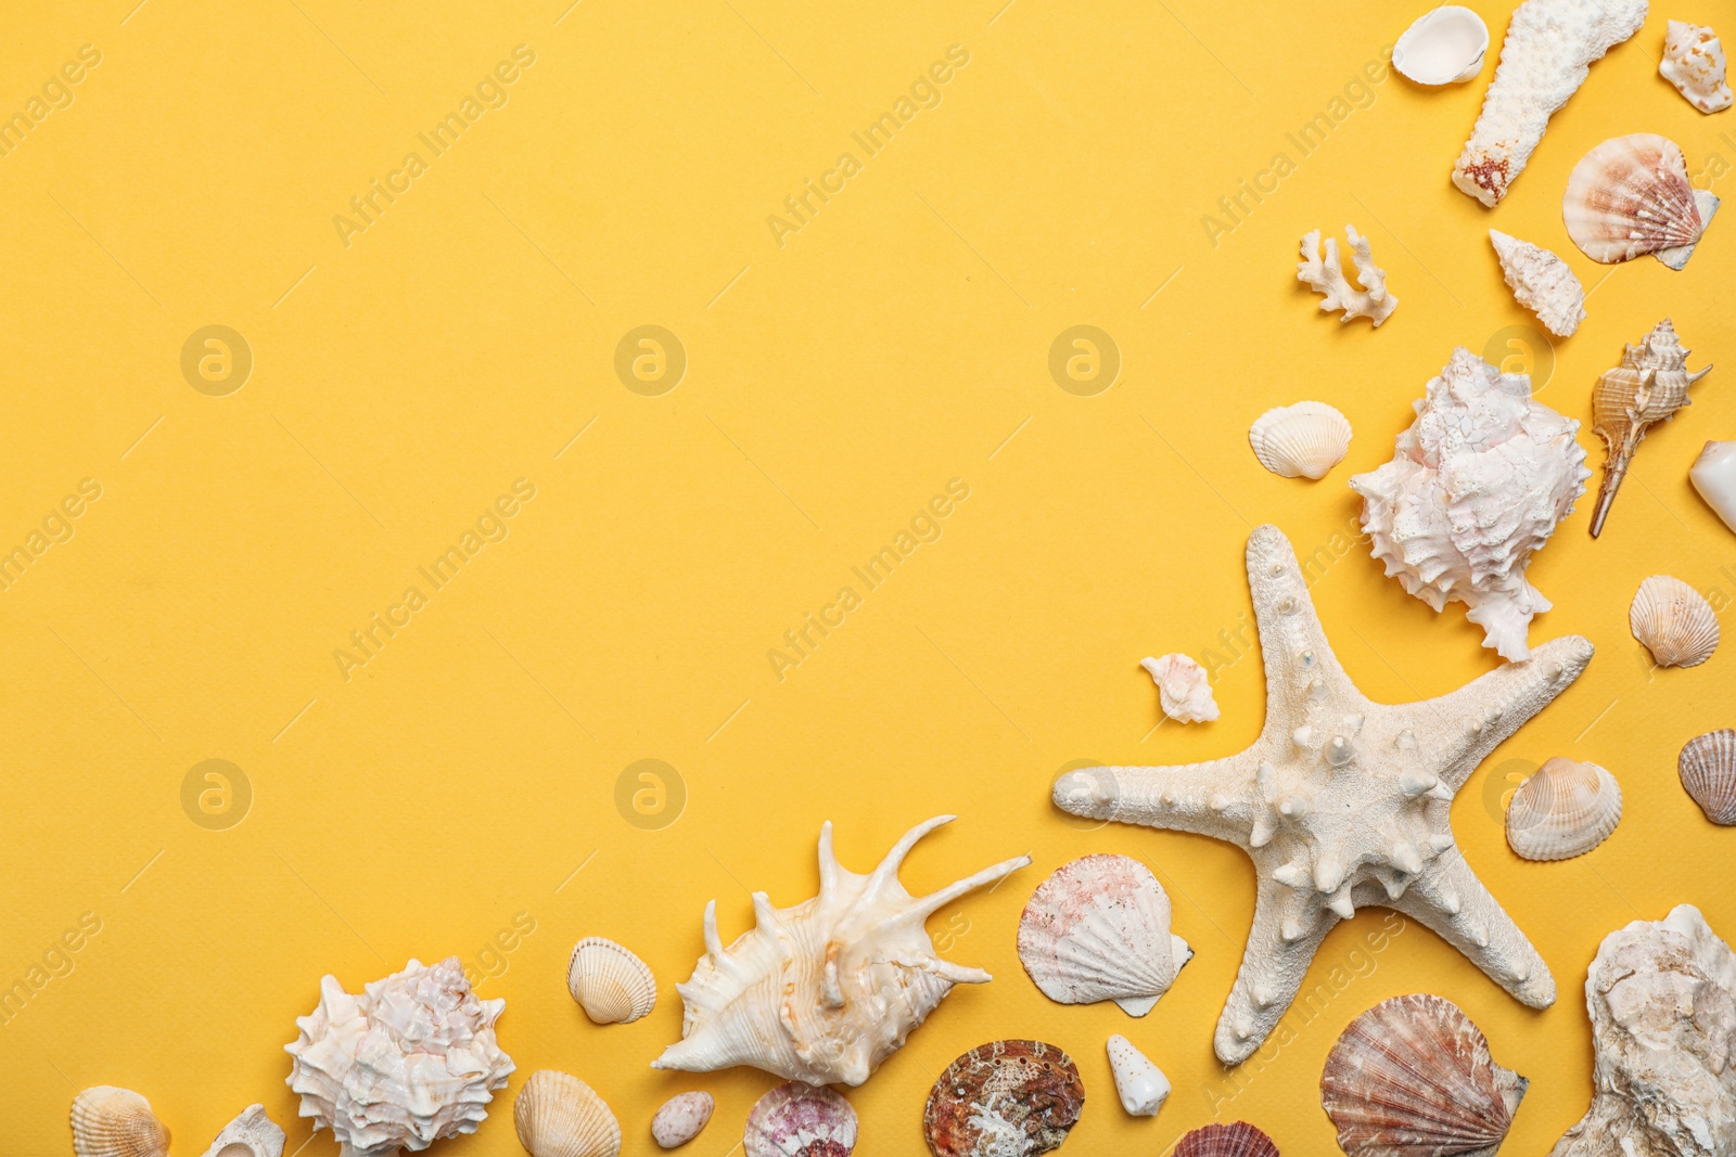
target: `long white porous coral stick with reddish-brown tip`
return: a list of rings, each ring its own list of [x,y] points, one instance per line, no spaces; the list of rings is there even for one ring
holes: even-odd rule
[[[1496,205],[1519,179],[1555,109],[1578,92],[1594,61],[1646,23],[1646,0],[1526,0],[1507,24],[1502,62],[1483,95],[1453,184]]]

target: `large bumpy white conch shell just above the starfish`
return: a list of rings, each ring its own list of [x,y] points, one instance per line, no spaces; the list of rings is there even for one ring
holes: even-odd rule
[[[1531,656],[1531,616],[1550,607],[1526,567],[1585,493],[1578,428],[1531,399],[1526,375],[1460,347],[1429,382],[1392,461],[1351,479],[1387,576],[1436,611],[1463,602],[1483,645],[1503,659]]]

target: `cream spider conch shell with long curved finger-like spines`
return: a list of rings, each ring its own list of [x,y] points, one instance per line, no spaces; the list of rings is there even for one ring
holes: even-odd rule
[[[953,819],[937,815],[911,827],[868,876],[838,864],[826,822],[819,895],[778,909],[755,892],[755,926],[727,949],[717,935],[717,902],[707,904],[705,956],[675,985],[686,1006],[682,1039],[651,1067],[753,1065],[786,1081],[854,1086],[904,1044],[955,984],[986,984],[981,968],[936,956],[924,921],[1031,857],[1002,860],[913,899],[898,883],[898,869],[918,840]]]

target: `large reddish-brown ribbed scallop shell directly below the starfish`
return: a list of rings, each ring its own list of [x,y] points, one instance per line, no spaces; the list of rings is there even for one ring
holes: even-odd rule
[[[1451,1001],[1394,996],[1349,1023],[1319,1098],[1351,1157],[1493,1157],[1528,1081]]]

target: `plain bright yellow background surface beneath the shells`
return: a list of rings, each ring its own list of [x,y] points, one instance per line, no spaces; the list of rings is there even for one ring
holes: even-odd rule
[[[1705,439],[1736,437],[1736,220],[1675,274],[1590,264],[1559,213],[1569,168],[1611,135],[1667,134],[1696,172],[1736,158],[1719,139],[1736,114],[1701,116],[1656,76],[1665,12],[1594,66],[1489,212],[1448,173],[1493,50],[1469,85],[1385,78],[1307,158],[1285,139],[1420,5],[1340,3],[1321,21],[1200,0],[134,3],[14,5],[0,45],[5,114],[80,45],[102,54],[75,102],[0,158],[0,541],[23,543],[82,479],[102,487],[0,595],[0,980],[26,977],[83,912],[102,921],[75,971],[0,1027],[9,1154],[69,1152],[66,1108],[99,1082],[149,1096],[182,1157],[252,1101],[286,1126],[286,1152],[335,1154],[330,1134],[309,1143],[285,1088],[283,1044],[319,977],[354,990],[448,954],[481,971],[521,912],[535,931],[479,987],[507,999],[519,1072],[483,1131],[439,1152],[521,1152],[510,1098],[554,1067],[609,1100],[635,1154],[665,1096],[712,1089],[717,1117],[691,1152],[726,1154],[773,1079],[646,1065],[679,1036],[672,985],[700,952],[705,902],[729,938],[750,888],[781,905],[811,895],[825,819],[866,871],[911,824],[957,812],[911,857],[913,892],[1036,860],[930,921],[951,959],[996,980],[955,990],[849,1093],[866,1154],[924,1152],[929,1084],[1000,1036],[1078,1060],[1088,1103],[1069,1152],[1161,1152],[1213,1112],[1286,1154],[1333,1152],[1326,1049],[1413,990],[1457,1001],[1531,1079],[1507,1148],[1545,1152],[1588,1101],[1581,984],[1599,940],[1679,902],[1736,931],[1736,836],[1675,777],[1687,737],[1733,722],[1736,659],[1651,673],[1627,630],[1653,572],[1736,595],[1736,538],[1686,477]],[[1477,7],[1498,42],[1507,9]],[[521,43],[536,62],[509,102],[424,154],[429,172],[345,248],[333,215]],[[969,64],[943,102],[863,156],[851,134],[950,45]],[[863,170],[779,248],[767,215],[844,151]],[[1208,243],[1201,217],[1278,151],[1295,172]],[[1403,302],[1378,331],[1340,326],[1293,279],[1297,238],[1345,222]],[[1694,364],[1733,363],[1646,441],[1602,539],[1587,496],[1536,559],[1557,609],[1533,642],[1578,631],[1599,652],[1453,812],[1561,999],[1528,1011],[1411,926],[1236,1091],[1210,1039],[1250,864],[1203,838],[1087,831],[1049,788],[1078,760],[1186,762],[1253,739],[1255,661],[1222,673],[1220,722],[1156,732],[1137,661],[1201,656],[1238,626],[1253,524],[1302,552],[1347,527],[1345,479],[1391,456],[1455,343],[1535,331],[1489,226],[1595,286],[1543,402],[1587,420],[1597,373],[1663,316]],[[226,397],[181,375],[207,324],[253,352]],[[660,397],[615,375],[616,342],[641,324],[687,352]],[[1073,324],[1118,343],[1108,392],[1050,380],[1050,342]],[[1319,484],[1266,474],[1246,448],[1260,411],[1304,397],[1356,427]],[[429,605],[345,682],[333,650],[349,631],[424,586],[417,567],[521,477],[536,498],[510,536],[424,588]],[[944,534],[865,592],[851,567],[950,479],[970,496]],[[863,605],[774,678],[767,650],[845,585]],[[1363,546],[1314,598],[1375,699],[1441,694],[1493,663],[1462,609],[1432,614]],[[1552,755],[1613,768],[1627,815],[1583,859],[1528,864],[1505,847],[1500,793]],[[252,786],[226,831],[182,810],[207,758]],[[686,786],[667,827],[616,810],[616,777],[641,758]],[[1050,1004],[1019,968],[1021,905],[1087,852],[1151,864],[1198,951],[1144,1020]],[[1333,931],[1309,985],[1349,970],[1380,919]],[[562,985],[582,935],[654,966],[651,1016],[583,1018]],[[1116,1105],[1111,1032],[1174,1081],[1156,1121]]]

